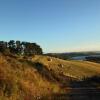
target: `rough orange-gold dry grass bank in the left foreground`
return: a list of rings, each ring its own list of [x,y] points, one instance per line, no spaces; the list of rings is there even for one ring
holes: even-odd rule
[[[1,55],[0,100],[34,100],[59,91],[59,84],[43,78],[26,60]]]

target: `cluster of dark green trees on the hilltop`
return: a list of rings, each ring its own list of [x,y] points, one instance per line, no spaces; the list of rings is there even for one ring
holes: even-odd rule
[[[42,48],[36,43],[10,40],[0,41],[0,52],[10,52],[20,55],[42,54]]]

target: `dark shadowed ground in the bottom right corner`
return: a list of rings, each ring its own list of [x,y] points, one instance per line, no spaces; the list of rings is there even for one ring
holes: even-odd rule
[[[70,92],[45,96],[42,100],[100,100],[100,77],[70,82]]]

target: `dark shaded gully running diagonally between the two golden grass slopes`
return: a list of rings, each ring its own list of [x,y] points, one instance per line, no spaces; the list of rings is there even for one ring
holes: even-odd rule
[[[27,63],[34,67],[43,78],[47,79],[48,81],[61,84],[62,88],[68,86],[69,81],[74,80],[63,74],[56,73],[52,69],[49,70],[45,65],[40,62],[27,61]]]

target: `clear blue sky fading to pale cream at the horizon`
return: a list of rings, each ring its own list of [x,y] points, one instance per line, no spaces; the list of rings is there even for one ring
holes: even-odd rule
[[[0,0],[0,40],[47,52],[100,51],[100,0]]]

